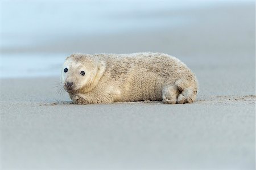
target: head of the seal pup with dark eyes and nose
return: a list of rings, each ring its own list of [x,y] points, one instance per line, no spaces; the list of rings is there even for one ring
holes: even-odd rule
[[[85,93],[93,89],[104,73],[105,65],[89,54],[72,54],[61,70],[61,83],[68,93]]]

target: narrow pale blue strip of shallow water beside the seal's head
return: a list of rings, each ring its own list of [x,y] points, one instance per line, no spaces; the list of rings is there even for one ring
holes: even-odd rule
[[[58,76],[65,54],[1,55],[0,78]]]

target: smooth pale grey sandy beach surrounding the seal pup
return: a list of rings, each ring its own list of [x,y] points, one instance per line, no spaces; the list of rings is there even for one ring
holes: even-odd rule
[[[74,105],[53,88],[59,76],[2,78],[2,169],[255,168],[254,3],[152,15],[194,19],[1,54],[168,53],[197,75],[196,102]]]

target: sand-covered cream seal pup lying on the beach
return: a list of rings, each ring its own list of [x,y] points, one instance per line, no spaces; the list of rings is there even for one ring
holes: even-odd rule
[[[124,101],[193,103],[197,80],[179,59],[163,53],[81,54],[67,57],[61,83],[75,104]]]

